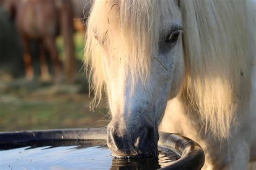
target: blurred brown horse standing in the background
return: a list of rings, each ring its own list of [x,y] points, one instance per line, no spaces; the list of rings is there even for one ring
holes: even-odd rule
[[[73,10],[71,1],[10,0],[7,1],[7,6],[11,17],[16,19],[17,29],[21,36],[26,78],[31,80],[34,77],[30,43],[32,40],[37,40],[39,42],[41,79],[50,79],[45,57],[46,51],[52,58],[55,81],[61,79],[62,66],[58,58],[55,38],[59,33],[62,33],[66,55],[65,75],[68,80],[73,81],[75,79],[75,56],[72,41]]]

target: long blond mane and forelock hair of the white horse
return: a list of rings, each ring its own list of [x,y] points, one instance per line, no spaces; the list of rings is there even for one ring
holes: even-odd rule
[[[136,81],[146,83],[158,50],[159,21],[172,11],[172,1],[96,1],[87,24],[85,59],[97,106],[104,89],[104,49],[122,62]],[[188,112],[197,111],[206,130],[227,137],[235,113],[250,98],[255,39],[249,37],[254,15],[245,1],[173,1],[183,19],[186,80],[183,97]],[[162,20],[160,19],[162,18]],[[255,28],[255,27],[254,27]],[[110,45],[111,43],[111,45]],[[152,46],[152,44],[155,44]],[[254,57],[252,57],[254,56]],[[248,102],[247,102],[248,103]]]

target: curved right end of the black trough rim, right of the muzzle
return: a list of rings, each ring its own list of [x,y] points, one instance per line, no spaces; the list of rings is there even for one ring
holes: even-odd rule
[[[177,150],[177,154],[181,153],[181,158],[178,159],[175,164],[172,164],[171,168],[161,168],[161,169],[192,169],[191,167],[200,167],[200,169],[204,166],[205,162],[205,154],[200,145],[186,137],[183,137],[179,134],[172,133],[159,133],[159,141],[158,145],[167,147],[167,148],[175,148]],[[187,162],[184,165],[184,162]],[[195,165],[197,164],[197,165]],[[198,169],[198,168],[197,168]]]

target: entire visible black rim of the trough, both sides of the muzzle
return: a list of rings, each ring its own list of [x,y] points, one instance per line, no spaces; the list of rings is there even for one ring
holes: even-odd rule
[[[106,134],[106,128],[0,132],[0,144],[53,140],[106,140]],[[205,161],[204,151],[197,142],[179,134],[159,132],[159,136],[159,146],[174,148],[177,154],[181,156],[181,158],[171,164],[171,166],[161,169],[193,170],[203,167]],[[184,164],[184,162],[186,163]]]

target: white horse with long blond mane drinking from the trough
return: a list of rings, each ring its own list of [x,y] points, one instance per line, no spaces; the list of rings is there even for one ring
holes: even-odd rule
[[[246,169],[256,159],[255,18],[251,1],[96,1],[85,63],[92,105],[107,93],[112,154],[156,155],[160,128],[197,141],[205,169]]]

